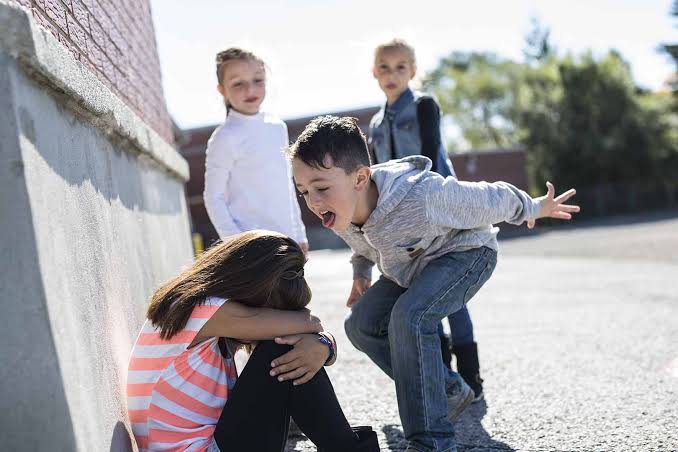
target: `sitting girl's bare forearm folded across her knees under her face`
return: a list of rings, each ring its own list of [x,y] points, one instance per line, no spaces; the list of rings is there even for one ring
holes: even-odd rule
[[[282,311],[269,308],[251,308],[226,301],[205,323],[195,342],[208,337],[231,337],[244,341],[274,339],[323,330],[320,319],[308,309]]]

